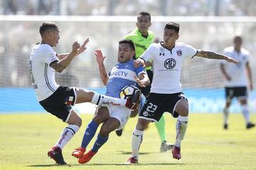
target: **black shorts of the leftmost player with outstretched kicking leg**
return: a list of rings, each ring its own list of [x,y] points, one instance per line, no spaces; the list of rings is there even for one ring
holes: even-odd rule
[[[73,110],[72,106],[75,105],[75,90],[77,90],[75,87],[59,86],[52,95],[39,103],[46,111],[66,122],[70,116],[70,111]]]

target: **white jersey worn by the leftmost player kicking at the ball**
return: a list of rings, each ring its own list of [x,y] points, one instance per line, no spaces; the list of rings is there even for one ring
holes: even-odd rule
[[[58,58],[53,47],[41,43],[33,47],[29,60],[29,69],[38,101],[48,98],[58,89],[58,85],[55,82],[55,70],[50,67],[50,63],[54,61],[58,61]]]

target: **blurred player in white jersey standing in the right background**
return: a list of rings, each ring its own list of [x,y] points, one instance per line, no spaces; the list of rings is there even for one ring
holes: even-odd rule
[[[242,38],[235,36],[234,45],[225,48],[223,54],[239,61],[238,65],[221,62],[220,69],[225,77],[225,108],[224,108],[224,129],[228,129],[228,109],[234,97],[238,98],[242,107],[242,114],[245,118],[247,129],[255,127],[250,122],[250,112],[247,106],[247,86],[252,91],[252,74],[249,64],[249,52],[242,48]],[[249,79],[249,84],[247,82]]]

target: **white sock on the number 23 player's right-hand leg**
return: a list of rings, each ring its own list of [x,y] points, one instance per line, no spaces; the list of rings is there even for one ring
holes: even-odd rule
[[[188,126],[188,116],[178,115],[177,123],[176,123],[176,147],[181,147],[181,140],[183,140],[186,129]]]

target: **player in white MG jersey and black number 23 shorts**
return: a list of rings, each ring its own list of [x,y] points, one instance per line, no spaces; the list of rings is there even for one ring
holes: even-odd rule
[[[137,164],[139,147],[142,144],[143,133],[150,122],[157,122],[164,112],[171,113],[177,119],[176,142],[172,149],[174,159],[181,159],[181,140],[185,136],[188,125],[188,100],[181,89],[182,62],[188,57],[206,57],[222,59],[238,64],[237,60],[206,50],[186,45],[178,40],[178,23],[167,23],[164,28],[164,41],[153,43],[135,60],[134,66],[144,65],[153,60],[153,82],[151,91],[139,113],[139,119],[132,134],[132,157],[127,164]]]

